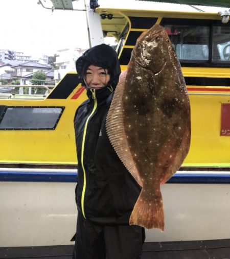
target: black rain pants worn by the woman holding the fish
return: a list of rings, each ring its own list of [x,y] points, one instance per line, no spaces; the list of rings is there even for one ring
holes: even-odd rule
[[[144,241],[143,227],[98,225],[78,213],[73,259],[139,259]]]

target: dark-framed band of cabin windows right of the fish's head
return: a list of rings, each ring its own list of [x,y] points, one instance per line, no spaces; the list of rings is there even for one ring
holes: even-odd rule
[[[230,24],[221,20],[163,18],[182,66],[229,66]]]

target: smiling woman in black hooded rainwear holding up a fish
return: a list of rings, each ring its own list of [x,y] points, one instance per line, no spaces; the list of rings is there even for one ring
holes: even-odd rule
[[[74,118],[78,218],[73,258],[141,258],[145,230],[129,225],[141,187],[114,151],[105,125],[121,73],[117,53],[96,45],[77,59],[76,69],[88,100]]]

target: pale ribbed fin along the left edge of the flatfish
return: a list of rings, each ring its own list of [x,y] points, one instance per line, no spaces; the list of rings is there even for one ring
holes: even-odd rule
[[[119,83],[114,92],[114,96],[106,117],[106,131],[114,150],[118,154],[124,166],[134,177],[137,183],[142,186],[143,183],[136,168],[136,164],[132,158],[124,127],[125,121],[122,98],[124,96],[125,77],[126,71],[120,75]]]

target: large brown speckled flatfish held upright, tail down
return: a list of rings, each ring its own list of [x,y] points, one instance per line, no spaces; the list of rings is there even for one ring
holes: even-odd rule
[[[160,184],[179,169],[191,138],[185,80],[163,27],[154,25],[137,39],[106,128],[114,150],[142,186],[129,224],[163,231]]]

